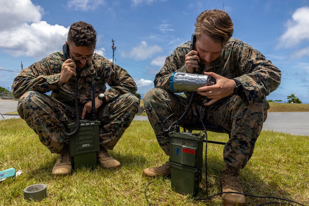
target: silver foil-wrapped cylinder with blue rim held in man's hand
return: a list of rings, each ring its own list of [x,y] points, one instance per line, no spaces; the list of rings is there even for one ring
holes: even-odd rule
[[[205,74],[190,74],[184,72],[174,72],[171,75],[170,86],[173,91],[197,91],[202,86],[214,85],[210,81],[211,77]]]

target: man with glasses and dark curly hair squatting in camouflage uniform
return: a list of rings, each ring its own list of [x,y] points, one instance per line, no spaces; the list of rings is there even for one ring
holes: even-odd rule
[[[54,177],[72,172],[70,135],[63,125],[79,118],[93,120],[94,116],[89,118],[89,114],[94,102],[96,120],[101,121],[97,161],[104,169],[118,170],[121,163],[107,149],[114,148],[138,111],[136,83],[125,69],[94,53],[96,35],[91,24],[73,23],[64,52],[53,53],[23,69],[12,85],[14,97],[19,98],[19,116],[51,153],[59,153],[52,170]],[[92,78],[94,101],[91,101]],[[106,83],[110,86],[108,90]],[[52,91],[50,96],[45,94],[49,91]]]

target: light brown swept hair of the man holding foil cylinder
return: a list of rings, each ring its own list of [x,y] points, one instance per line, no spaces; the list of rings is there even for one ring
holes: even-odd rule
[[[206,10],[196,18],[195,33],[197,40],[201,35],[210,36],[215,43],[221,43],[222,47],[231,39],[234,32],[234,24],[231,17],[223,10]]]

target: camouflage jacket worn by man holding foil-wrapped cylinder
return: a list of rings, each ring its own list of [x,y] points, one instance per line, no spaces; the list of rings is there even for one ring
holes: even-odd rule
[[[170,87],[170,78],[173,72],[186,72],[185,55],[190,51],[190,41],[177,47],[171,56],[155,76],[155,87],[173,91]],[[205,66],[205,69],[197,68],[198,74],[214,72],[222,77],[237,79],[243,86],[244,92],[240,96],[243,103],[250,105],[266,98],[270,92],[276,90],[281,81],[281,71],[256,49],[250,45],[232,38],[215,61]],[[190,97],[192,92],[184,92]],[[225,97],[221,101],[228,99]],[[196,101],[203,101],[204,96],[197,95]]]

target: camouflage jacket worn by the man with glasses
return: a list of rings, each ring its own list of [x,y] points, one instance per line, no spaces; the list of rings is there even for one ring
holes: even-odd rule
[[[51,97],[71,106],[76,81],[72,77],[64,85],[61,84],[59,77],[63,62],[63,53],[56,52],[23,69],[12,84],[14,97],[19,99],[29,90],[44,93],[52,91]],[[95,96],[105,93],[111,99],[116,99],[125,93],[135,94],[137,91],[136,83],[125,69],[95,53],[94,60],[83,68],[78,78],[78,97],[82,108],[91,101],[91,77],[95,79]],[[110,86],[107,91],[105,83]]]

